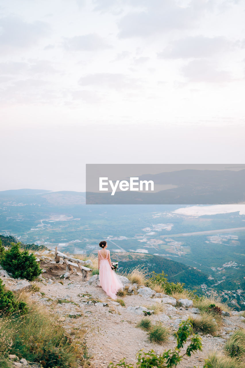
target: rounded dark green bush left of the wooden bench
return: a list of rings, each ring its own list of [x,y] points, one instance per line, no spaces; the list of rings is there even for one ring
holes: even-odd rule
[[[17,279],[34,280],[42,273],[34,254],[29,254],[27,250],[21,252],[19,249],[21,243],[12,243],[12,247],[4,253],[1,259],[1,265],[7,271],[12,273]]]

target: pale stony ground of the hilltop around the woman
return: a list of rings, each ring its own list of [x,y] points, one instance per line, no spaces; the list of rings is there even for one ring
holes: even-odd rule
[[[142,348],[146,351],[153,349],[156,353],[174,348],[173,333],[178,329],[181,319],[199,313],[193,308],[191,301],[182,300],[182,306],[175,307],[174,298],[156,294],[149,288],[132,286],[128,279],[123,277],[121,277],[123,284],[129,284],[129,290],[135,290],[135,293],[132,291],[131,295],[122,298],[125,302],[125,307],[122,307],[107,297],[100,287],[97,275],[92,276],[88,282],[82,282],[82,275],[77,272],[69,278],[61,279],[60,276],[65,274],[65,264],[63,260],[56,264],[51,256],[53,255],[49,253],[40,257],[45,272],[39,277],[39,281],[35,282],[40,291],[32,293],[31,297],[48,309],[67,333],[71,335],[79,331],[84,333],[88,355],[94,368],[107,367],[109,362],[119,362],[124,357],[127,363],[135,364],[136,353]],[[28,286],[27,281],[11,279],[2,269],[0,277],[10,290],[20,290]],[[144,315],[142,311],[146,310],[146,307],[151,310],[150,306],[154,303],[163,305],[163,312],[152,314],[150,316],[152,322],[161,321],[171,332],[164,346],[150,343],[147,332],[136,328],[136,324]],[[219,337],[202,336],[203,350],[190,358],[185,358],[179,367],[187,368],[195,365],[202,368],[209,351],[222,350],[231,333],[239,327],[245,327],[242,319],[238,312],[223,316]],[[24,367],[28,362],[15,358],[13,364]]]

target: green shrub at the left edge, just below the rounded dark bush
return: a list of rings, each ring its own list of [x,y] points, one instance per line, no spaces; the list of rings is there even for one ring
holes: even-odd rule
[[[5,291],[3,281],[0,279],[0,315],[19,312],[25,314],[28,311],[26,303],[18,301],[13,291]]]

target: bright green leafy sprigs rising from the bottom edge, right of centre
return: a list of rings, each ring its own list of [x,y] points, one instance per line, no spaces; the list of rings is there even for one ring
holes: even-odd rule
[[[137,368],[175,368],[182,360],[184,355],[188,357],[197,350],[202,350],[202,339],[198,335],[192,335],[191,343],[188,345],[186,352],[180,355],[180,348],[187,342],[189,336],[192,335],[192,324],[191,321],[187,320],[180,324],[178,331],[175,336],[177,337],[177,346],[173,350],[164,351],[163,354],[157,355],[154,350],[148,353],[139,350],[137,354]],[[134,368],[132,364],[126,364],[125,358],[120,360],[119,363],[114,365],[109,364],[109,368],[124,367]]]

